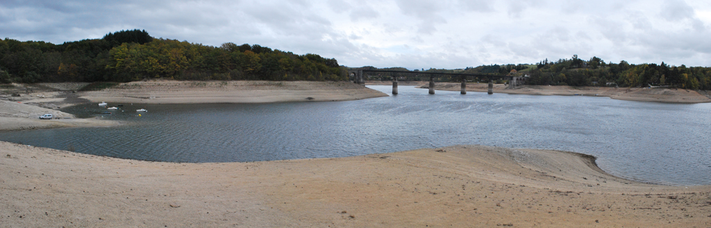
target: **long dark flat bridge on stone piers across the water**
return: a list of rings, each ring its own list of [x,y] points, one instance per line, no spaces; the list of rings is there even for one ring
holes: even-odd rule
[[[351,75],[353,82],[360,85],[365,85],[365,77],[372,75],[390,76],[392,77],[392,94],[397,94],[397,77],[429,75],[429,94],[434,94],[434,77],[450,77],[454,79],[459,77],[461,80],[461,94],[466,94],[466,77],[488,78],[488,94],[493,94],[493,79],[504,78],[512,80],[510,85],[516,83],[516,77],[511,75],[484,75],[484,74],[459,74],[459,73],[444,73],[444,72],[422,72],[422,71],[395,71],[395,70],[351,70],[348,72]]]

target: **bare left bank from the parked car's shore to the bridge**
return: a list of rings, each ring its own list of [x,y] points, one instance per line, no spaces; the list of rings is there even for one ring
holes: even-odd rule
[[[0,89],[0,131],[71,126],[116,126],[117,121],[75,119],[60,108],[86,102],[211,104],[346,101],[387,94],[351,82],[128,82],[109,89],[75,92],[87,83],[43,83]],[[11,96],[20,93],[20,97]],[[53,114],[56,119],[41,120]]]

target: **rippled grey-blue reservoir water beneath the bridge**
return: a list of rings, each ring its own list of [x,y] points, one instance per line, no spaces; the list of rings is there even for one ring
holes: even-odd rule
[[[370,86],[390,93],[390,86]],[[0,132],[0,140],[146,161],[330,158],[456,144],[575,151],[624,178],[711,185],[711,104],[628,102],[399,87],[350,102],[96,104],[64,110],[115,127]],[[114,104],[109,104],[114,106]],[[137,116],[136,109],[149,112]],[[122,112],[124,111],[124,112]]]

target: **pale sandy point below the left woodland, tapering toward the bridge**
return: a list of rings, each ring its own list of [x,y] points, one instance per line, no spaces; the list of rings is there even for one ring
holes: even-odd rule
[[[156,80],[123,83],[110,89],[84,92],[80,97],[91,102],[210,104],[346,101],[387,97],[387,94],[352,82]]]

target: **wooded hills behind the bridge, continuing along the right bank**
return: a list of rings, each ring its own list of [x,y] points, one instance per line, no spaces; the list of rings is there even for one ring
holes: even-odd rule
[[[375,67],[361,67],[376,70]],[[401,67],[379,70],[409,71]],[[536,64],[481,65],[458,70],[434,69],[412,70],[412,72],[442,72],[474,75],[528,75],[529,85],[570,85],[570,86],[619,86],[648,87],[663,86],[683,89],[711,89],[711,67],[670,66],[665,63],[644,63],[634,65],[622,60],[620,63],[605,63],[593,57],[582,60],[573,55],[570,59],[555,62],[543,60]],[[372,80],[392,80],[390,75],[369,76]],[[401,79],[403,80],[403,79]],[[429,77],[404,77],[404,80],[429,80]],[[459,77],[439,77],[439,81],[459,81]],[[473,79],[470,79],[473,80]],[[486,81],[486,77],[474,80]],[[505,80],[498,80],[503,83]]]

